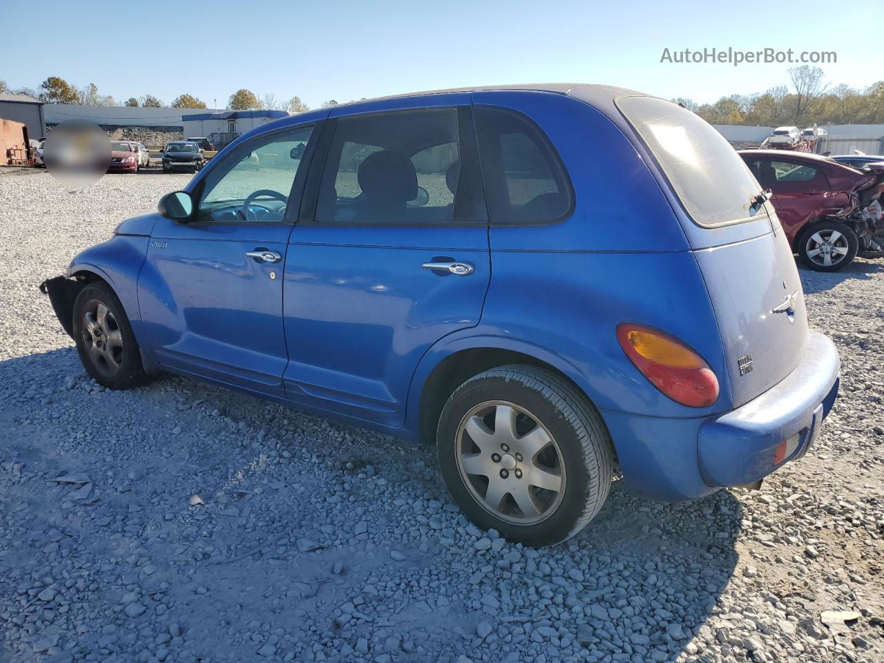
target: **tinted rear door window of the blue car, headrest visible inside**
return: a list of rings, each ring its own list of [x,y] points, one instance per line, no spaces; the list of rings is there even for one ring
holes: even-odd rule
[[[445,224],[471,194],[461,173],[459,113],[399,110],[340,118],[325,160],[316,221]],[[466,219],[475,220],[475,219]]]

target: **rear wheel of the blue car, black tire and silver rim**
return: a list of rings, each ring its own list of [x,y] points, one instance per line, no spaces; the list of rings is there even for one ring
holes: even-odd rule
[[[598,410],[567,379],[533,366],[486,370],[458,387],[439,417],[437,453],[472,522],[531,546],[583,530],[613,475]]]

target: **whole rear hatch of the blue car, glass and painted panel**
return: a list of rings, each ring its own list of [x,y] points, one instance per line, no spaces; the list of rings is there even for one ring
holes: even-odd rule
[[[784,232],[773,232],[780,228],[773,206],[753,203],[758,181],[713,126],[663,99],[628,96],[617,103],[696,224],[686,234],[715,310],[739,407],[804,357],[807,316],[792,250]],[[747,232],[734,240],[726,228]]]

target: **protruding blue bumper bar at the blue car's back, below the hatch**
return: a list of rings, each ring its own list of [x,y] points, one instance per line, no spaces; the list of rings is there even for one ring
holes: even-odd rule
[[[804,358],[780,384],[700,426],[697,458],[705,483],[751,484],[804,455],[837,396],[839,370],[834,343],[811,331]]]

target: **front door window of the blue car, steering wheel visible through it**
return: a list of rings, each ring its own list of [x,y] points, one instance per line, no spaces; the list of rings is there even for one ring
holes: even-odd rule
[[[197,219],[228,223],[282,221],[313,129],[300,126],[261,136],[225,156],[224,163],[206,177]]]

